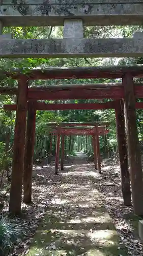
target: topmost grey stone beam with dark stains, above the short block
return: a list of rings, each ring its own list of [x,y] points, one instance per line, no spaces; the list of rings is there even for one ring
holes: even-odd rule
[[[36,3],[35,3],[36,2]],[[46,3],[45,3],[46,2]],[[62,2],[62,4],[61,4]],[[3,1],[4,26],[63,26],[65,18],[82,19],[84,25],[142,25],[142,0],[20,0]],[[28,17],[28,18],[27,18]]]

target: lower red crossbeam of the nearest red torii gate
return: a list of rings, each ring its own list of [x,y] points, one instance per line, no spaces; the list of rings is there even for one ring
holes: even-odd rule
[[[136,98],[143,98],[143,83],[134,83]],[[17,88],[1,87],[0,93],[18,95]],[[27,100],[67,99],[122,99],[123,83],[60,84],[58,86],[30,87]]]

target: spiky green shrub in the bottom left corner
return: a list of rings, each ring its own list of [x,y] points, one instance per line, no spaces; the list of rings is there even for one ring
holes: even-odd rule
[[[0,255],[7,256],[14,248],[16,240],[21,237],[22,226],[17,220],[7,217],[0,219]]]

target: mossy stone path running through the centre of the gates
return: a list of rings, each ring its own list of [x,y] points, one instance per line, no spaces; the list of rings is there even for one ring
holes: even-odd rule
[[[28,256],[127,255],[97,189],[100,179],[82,154],[65,166]]]

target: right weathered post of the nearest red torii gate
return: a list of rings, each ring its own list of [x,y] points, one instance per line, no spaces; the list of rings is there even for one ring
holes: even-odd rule
[[[135,94],[132,75],[130,73],[124,74],[122,82],[125,92],[124,108],[132,187],[132,202],[135,214],[143,215],[142,167],[136,125]]]

